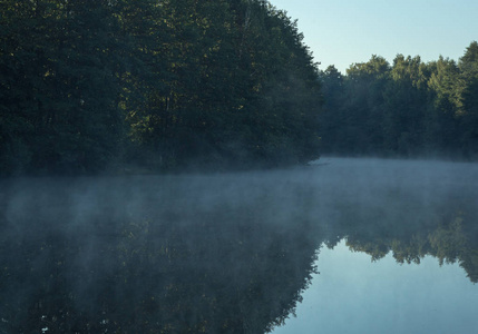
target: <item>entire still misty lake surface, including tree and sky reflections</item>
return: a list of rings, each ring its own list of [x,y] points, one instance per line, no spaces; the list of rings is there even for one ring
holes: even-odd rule
[[[474,333],[477,218],[475,164],[3,181],[0,333]]]

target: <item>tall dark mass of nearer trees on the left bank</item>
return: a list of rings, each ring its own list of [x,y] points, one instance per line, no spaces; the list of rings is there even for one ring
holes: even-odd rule
[[[0,2],[0,174],[318,156],[318,70],[264,0]]]

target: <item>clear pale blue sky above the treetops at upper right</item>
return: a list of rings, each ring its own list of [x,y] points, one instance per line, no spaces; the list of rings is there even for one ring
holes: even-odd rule
[[[297,20],[320,69],[342,73],[372,55],[459,60],[478,40],[476,0],[270,0]]]

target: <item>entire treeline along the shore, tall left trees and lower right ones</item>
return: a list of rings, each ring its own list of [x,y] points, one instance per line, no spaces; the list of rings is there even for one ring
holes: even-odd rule
[[[321,71],[265,0],[4,0],[0,69],[0,176],[478,157],[477,42]]]

